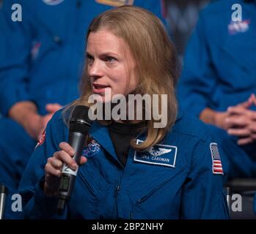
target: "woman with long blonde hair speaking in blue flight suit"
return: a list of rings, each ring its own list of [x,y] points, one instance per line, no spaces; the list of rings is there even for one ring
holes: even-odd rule
[[[178,111],[175,54],[158,18],[139,7],[119,7],[92,21],[81,97],[54,114],[23,173],[19,189],[26,218],[228,218],[218,146],[206,124]],[[136,110],[150,113],[147,120],[127,119],[134,111],[128,109],[125,118],[112,114],[110,121],[93,121],[78,168],[67,126],[74,107],[92,105],[92,94],[105,104],[114,94],[159,95],[167,123],[155,127],[150,110],[158,107],[142,102]],[[167,94],[166,102],[161,94]],[[78,173],[70,202],[57,214],[64,162]]]

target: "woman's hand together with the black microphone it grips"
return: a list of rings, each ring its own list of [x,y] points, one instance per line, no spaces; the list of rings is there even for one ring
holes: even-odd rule
[[[48,196],[58,195],[59,211],[63,211],[66,202],[70,199],[76,181],[78,165],[87,162],[81,156],[84,143],[89,134],[92,121],[88,117],[89,107],[76,106],[70,118],[70,132],[68,143],[60,143],[61,151],[48,158],[45,165],[44,192]]]

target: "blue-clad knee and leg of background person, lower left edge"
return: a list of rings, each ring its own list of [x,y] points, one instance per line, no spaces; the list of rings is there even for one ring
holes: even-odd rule
[[[9,190],[5,219],[19,219],[22,217],[21,205],[12,211],[12,203],[15,201],[12,199],[18,194],[16,188],[18,188],[24,167],[29,161],[35,140],[10,118],[0,119],[0,132],[0,184],[4,184]]]

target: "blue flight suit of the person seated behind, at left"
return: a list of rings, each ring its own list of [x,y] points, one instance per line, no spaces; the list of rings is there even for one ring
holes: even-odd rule
[[[100,3],[98,3],[100,2]],[[111,2],[95,0],[10,0],[0,10],[0,183],[10,193],[6,218],[21,218],[12,212],[12,194],[17,193],[24,167],[36,142],[8,118],[16,102],[32,101],[40,115],[45,105],[67,105],[78,97],[78,80],[84,64],[85,37],[92,19],[111,9]],[[132,2],[132,1],[126,1]],[[12,21],[21,4],[22,21]],[[160,0],[134,0],[161,18]],[[161,18],[163,20],[163,18]]]

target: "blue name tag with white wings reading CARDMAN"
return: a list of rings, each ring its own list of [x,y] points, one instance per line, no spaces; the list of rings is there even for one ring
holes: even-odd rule
[[[137,144],[142,140],[137,140]],[[177,156],[177,147],[169,145],[156,144],[150,147],[147,151],[134,152],[134,161],[143,162],[153,165],[163,165],[167,167],[175,167]]]

